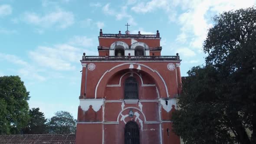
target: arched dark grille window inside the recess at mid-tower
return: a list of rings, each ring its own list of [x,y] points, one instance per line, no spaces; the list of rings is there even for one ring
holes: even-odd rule
[[[138,82],[133,76],[125,80],[125,99],[138,99]]]

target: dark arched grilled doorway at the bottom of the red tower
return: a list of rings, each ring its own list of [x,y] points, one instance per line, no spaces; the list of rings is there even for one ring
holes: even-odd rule
[[[140,144],[140,129],[135,121],[125,124],[125,144]]]

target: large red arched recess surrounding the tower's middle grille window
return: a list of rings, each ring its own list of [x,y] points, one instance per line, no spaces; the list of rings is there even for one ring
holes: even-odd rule
[[[129,78],[133,78],[134,82],[127,84]],[[133,86],[134,88],[129,88]],[[127,93],[127,91],[130,92]],[[108,79],[104,95],[106,100],[154,100],[159,97],[154,78],[148,73],[143,71],[138,72],[136,69],[124,69],[113,74]]]

